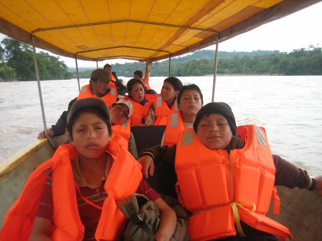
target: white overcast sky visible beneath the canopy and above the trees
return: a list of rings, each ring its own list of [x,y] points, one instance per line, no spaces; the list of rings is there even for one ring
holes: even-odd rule
[[[309,45],[322,47],[321,24],[322,2],[219,43],[218,51],[252,52],[254,50],[279,50],[280,52],[290,53],[294,49],[308,48]],[[0,40],[4,37],[5,35],[0,34]],[[215,49],[215,45],[205,49]],[[43,50],[37,50],[37,52],[39,51]],[[75,60],[73,58],[58,57],[68,67],[75,68]],[[99,68],[102,68],[106,63],[115,64],[125,62],[131,61],[123,59],[106,60],[99,62],[98,65]],[[96,62],[92,61],[78,60],[77,64],[78,68],[96,68]]]

